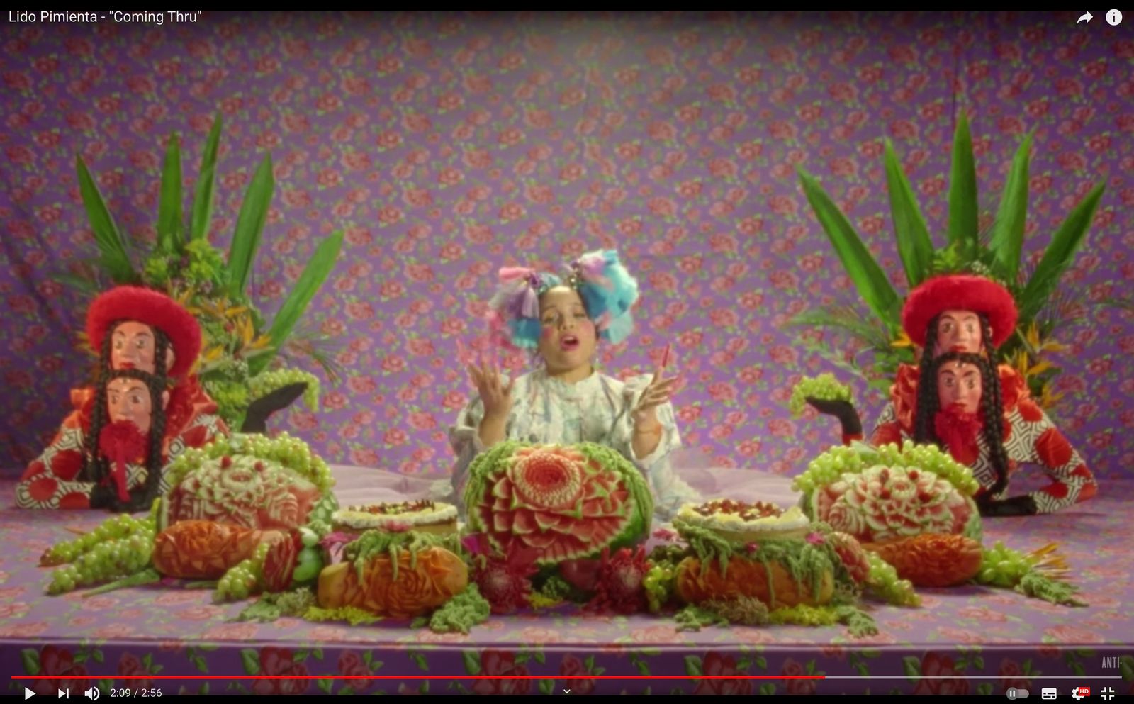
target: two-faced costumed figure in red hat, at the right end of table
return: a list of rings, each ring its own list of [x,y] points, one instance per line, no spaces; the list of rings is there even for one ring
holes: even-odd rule
[[[902,311],[906,334],[921,349],[902,365],[890,401],[875,424],[874,446],[905,441],[947,449],[980,482],[984,516],[1050,514],[1093,497],[1098,486],[1078,452],[1031,398],[1027,384],[995,350],[1016,329],[1017,309],[1002,286],[976,275],[934,277],[915,288]],[[807,399],[843,424],[844,442],[862,438],[847,401]],[[1051,483],[1009,497],[1019,464],[1038,464]]]

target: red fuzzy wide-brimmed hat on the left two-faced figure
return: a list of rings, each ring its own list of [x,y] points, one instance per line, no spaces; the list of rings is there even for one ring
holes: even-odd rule
[[[174,348],[174,366],[167,373],[178,378],[193,368],[201,354],[201,325],[193,314],[169,296],[139,286],[119,286],[99,295],[86,312],[86,337],[95,351],[115,321],[137,321],[166,333]]]

